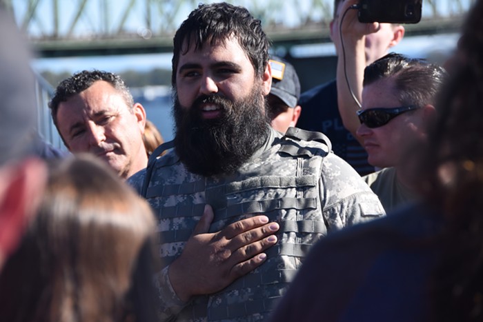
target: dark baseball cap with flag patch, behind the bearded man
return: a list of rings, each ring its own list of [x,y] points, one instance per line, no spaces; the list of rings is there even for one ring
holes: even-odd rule
[[[272,88],[270,94],[282,99],[290,108],[295,108],[300,97],[300,81],[295,68],[279,57],[270,59]]]

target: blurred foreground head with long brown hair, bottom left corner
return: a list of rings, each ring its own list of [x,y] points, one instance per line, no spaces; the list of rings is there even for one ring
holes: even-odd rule
[[[0,321],[154,321],[150,207],[89,154],[55,161],[0,274]]]

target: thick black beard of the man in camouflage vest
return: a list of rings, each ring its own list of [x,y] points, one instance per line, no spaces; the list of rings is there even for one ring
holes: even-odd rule
[[[190,172],[205,177],[233,174],[268,137],[270,119],[261,89],[236,102],[219,94],[203,95],[190,108],[181,107],[174,95],[175,150]],[[203,103],[221,106],[221,117],[203,119]]]

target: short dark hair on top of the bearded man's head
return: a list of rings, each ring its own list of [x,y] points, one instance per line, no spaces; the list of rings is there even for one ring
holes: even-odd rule
[[[228,3],[200,4],[188,18],[181,23],[173,40],[172,77],[173,87],[176,85],[176,71],[179,56],[186,53],[193,41],[196,49],[206,43],[213,45],[223,43],[235,37],[239,45],[250,59],[259,77],[268,63],[270,41],[262,30],[262,21],[255,19],[246,8]]]

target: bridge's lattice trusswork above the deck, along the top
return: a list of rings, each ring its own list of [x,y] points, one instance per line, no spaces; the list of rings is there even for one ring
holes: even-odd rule
[[[206,0],[203,2],[214,2]],[[387,0],[392,1],[392,0]],[[455,17],[475,0],[423,0],[423,19]],[[199,0],[0,0],[11,8],[32,39],[39,41],[172,37]],[[227,0],[245,6],[266,31],[304,30],[313,23],[328,26],[333,0]]]

